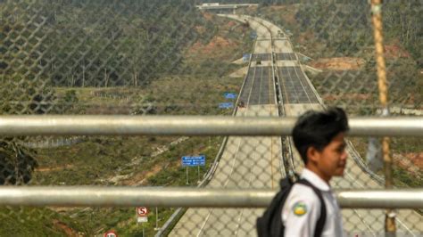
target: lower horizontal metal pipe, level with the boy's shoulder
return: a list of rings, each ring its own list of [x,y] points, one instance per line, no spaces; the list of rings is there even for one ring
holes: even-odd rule
[[[275,190],[99,186],[0,187],[0,205],[264,208]],[[342,208],[423,208],[423,189],[336,192]]]

